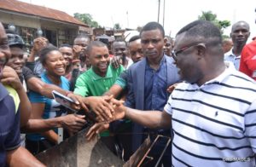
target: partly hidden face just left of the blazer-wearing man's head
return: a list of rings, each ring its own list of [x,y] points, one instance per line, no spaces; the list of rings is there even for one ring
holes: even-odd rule
[[[133,60],[133,62],[137,62],[143,59],[144,55],[141,39],[137,39],[129,43],[128,49],[131,56],[131,60]]]

